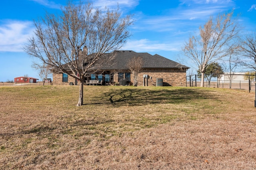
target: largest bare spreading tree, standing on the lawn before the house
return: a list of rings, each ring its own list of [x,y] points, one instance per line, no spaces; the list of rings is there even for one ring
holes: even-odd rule
[[[121,17],[119,9],[104,11],[92,4],[68,2],[62,14],[46,13],[34,21],[36,30],[24,46],[29,55],[41,59],[57,73],[65,73],[80,81],[77,106],[83,105],[84,79],[96,67],[94,63],[104,58],[106,52],[119,49],[130,37],[128,27],[132,16]],[[82,47],[85,47],[81,53]]]

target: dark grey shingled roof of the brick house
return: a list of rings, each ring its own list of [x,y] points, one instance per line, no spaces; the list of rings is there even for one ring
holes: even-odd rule
[[[125,70],[128,69],[127,63],[133,57],[142,57],[143,68],[189,68],[175,61],[166,59],[160,55],[151,55],[149,53],[136,53],[134,51],[124,50],[124,51],[114,51],[108,55],[115,55],[115,58],[111,61],[114,64],[104,64],[101,66],[102,70]]]

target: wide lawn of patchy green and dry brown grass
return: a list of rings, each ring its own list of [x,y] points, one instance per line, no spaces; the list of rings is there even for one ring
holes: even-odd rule
[[[256,169],[254,93],[0,87],[0,169]]]

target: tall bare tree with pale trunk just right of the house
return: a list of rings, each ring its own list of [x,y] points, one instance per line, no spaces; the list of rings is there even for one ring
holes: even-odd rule
[[[204,72],[211,63],[230,54],[231,45],[238,35],[240,27],[236,18],[232,19],[233,12],[218,17],[212,17],[204,27],[199,27],[200,35],[192,36],[185,43],[182,51],[192,60],[201,72],[201,87],[204,86]]]

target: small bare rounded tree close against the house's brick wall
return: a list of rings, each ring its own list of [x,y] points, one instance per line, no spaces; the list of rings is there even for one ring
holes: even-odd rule
[[[141,72],[143,66],[142,57],[132,57],[127,63],[127,66],[132,72],[133,85],[138,86],[138,74]]]

